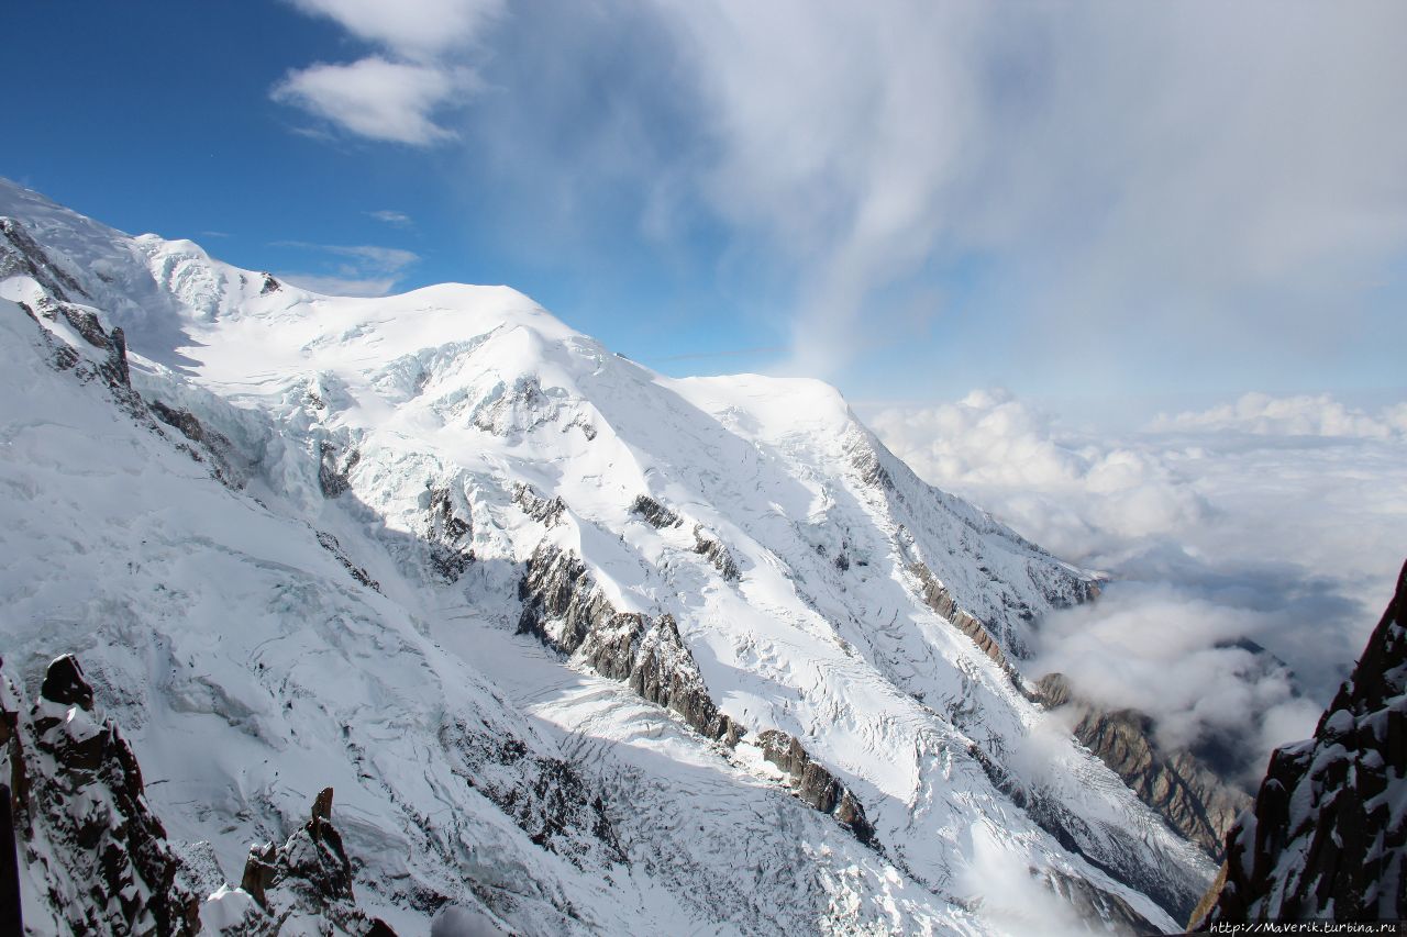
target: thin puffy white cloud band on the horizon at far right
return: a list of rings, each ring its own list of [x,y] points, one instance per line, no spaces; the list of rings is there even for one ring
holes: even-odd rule
[[[1370,416],[1338,402],[1327,394],[1318,397],[1271,397],[1245,394],[1234,404],[1221,404],[1200,412],[1158,416],[1152,429],[1234,431],[1258,436],[1358,436],[1390,439],[1407,433],[1407,404],[1397,404]]]

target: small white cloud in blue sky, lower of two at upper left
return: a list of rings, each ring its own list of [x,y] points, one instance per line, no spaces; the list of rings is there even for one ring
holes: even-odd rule
[[[433,114],[474,82],[469,72],[369,56],[290,72],[272,94],[359,136],[426,146],[454,136]]]

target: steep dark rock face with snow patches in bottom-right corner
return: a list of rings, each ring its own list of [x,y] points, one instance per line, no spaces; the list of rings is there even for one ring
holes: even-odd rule
[[[1197,927],[1407,917],[1407,566],[1314,737],[1271,756]],[[1210,896],[1209,896],[1210,898]]]

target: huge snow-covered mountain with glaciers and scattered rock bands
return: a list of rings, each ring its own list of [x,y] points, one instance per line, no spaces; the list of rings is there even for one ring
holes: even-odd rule
[[[207,927],[329,786],[355,920],[407,934],[1175,930],[1206,891],[1023,674],[1095,580],[833,388],[0,217],[4,673],[48,705],[82,661]]]

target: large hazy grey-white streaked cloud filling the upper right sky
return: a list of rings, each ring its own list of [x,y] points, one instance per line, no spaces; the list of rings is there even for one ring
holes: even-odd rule
[[[1365,270],[1407,245],[1400,4],[660,8],[708,103],[715,203],[799,259],[805,369],[900,325],[881,293],[933,259],[995,255],[1041,340],[1137,322],[1265,353],[1345,335]]]

